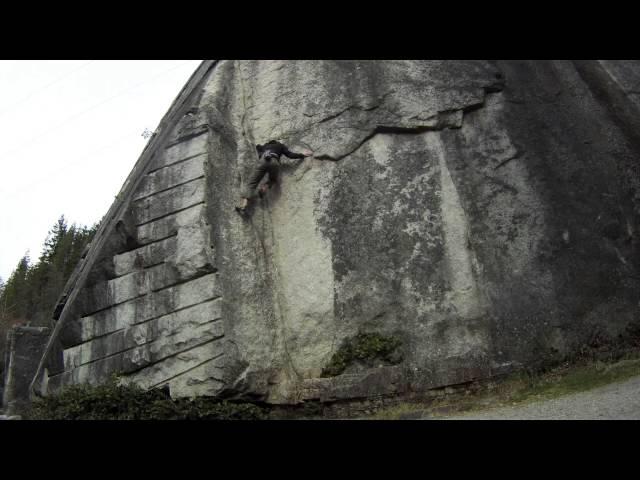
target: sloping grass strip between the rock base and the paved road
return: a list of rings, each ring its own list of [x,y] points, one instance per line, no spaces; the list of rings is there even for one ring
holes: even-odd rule
[[[379,410],[369,418],[398,420],[437,418],[488,408],[525,405],[624,381],[640,375],[640,354],[615,362],[563,364],[543,373],[520,372],[488,382],[477,391],[460,391],[429,400],[405,402]]]

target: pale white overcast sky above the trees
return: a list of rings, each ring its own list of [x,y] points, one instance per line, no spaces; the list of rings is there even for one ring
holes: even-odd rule
[[[0,278],[107,212],[200,60],[0,61]]]

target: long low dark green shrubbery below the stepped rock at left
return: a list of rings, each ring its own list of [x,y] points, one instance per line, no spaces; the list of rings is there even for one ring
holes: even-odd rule
[[[262,420],[264,409],[210,397],[171,399],[163,390],[118,385],[114,377],[97,386],[72,385],[34,401],[30,420]]]

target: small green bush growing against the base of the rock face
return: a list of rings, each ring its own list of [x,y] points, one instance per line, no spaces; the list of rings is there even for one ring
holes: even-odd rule
[[[322,370],[323,377],[340,375],[355,361],[373,366],[374,361],[397,364],[402,358],[397,353],[401,342],[395,337],[385,337],[378,333],[360,333],[346,339]]]

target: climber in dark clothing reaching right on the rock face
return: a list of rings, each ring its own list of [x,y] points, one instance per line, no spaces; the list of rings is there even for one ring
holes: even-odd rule
[[[291,152],[284,144],[277,140],[270,140],[264,145],[256,145],[256,150],[260,157],[260,163],[250,177],[245,192],[242,195],[240,206],[236,207],[237,212],[243,216],[247,213],[249,202],[256,197],[256,188],[265,175],[269,174],[269,180],[262,185],[257,192],[260,197],[278,182],[281,155],[285,155],[288,158],[303,159],[310,157],[313,153],[311,150],[303,150],[302,153]]]

